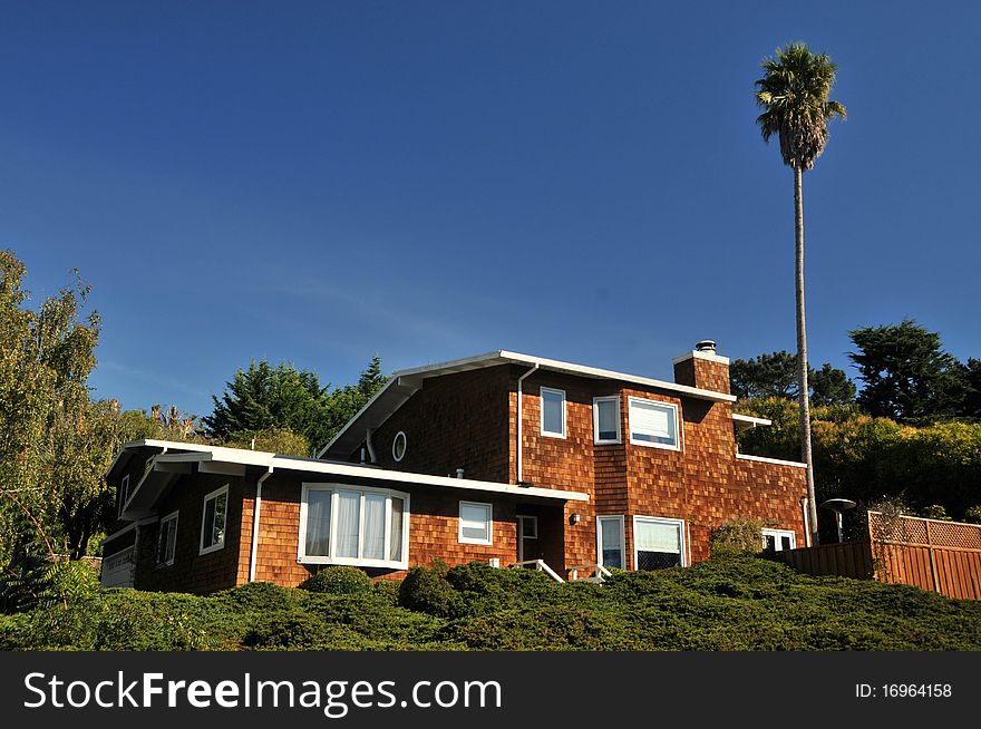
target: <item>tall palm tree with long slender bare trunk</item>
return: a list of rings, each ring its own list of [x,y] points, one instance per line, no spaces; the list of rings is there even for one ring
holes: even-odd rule
[[[825,55],[812,54],[806,43],[778,48],[763,60],[764,77],[756,81],[756,103],[763,108],[756,122],[764,142],[778,135],[784,164],[794,171],[794,222],[797,284],[797,383],[800,400],[800,457],[807,464],[807,508],[810,543],[817,544],[817,504],[814,459],[810,453],[810,401],[807,389],[807,329],[804,322],[804,171],[824,152],[827,123],[845,118],[845,107],[828,99],[837,66]]]

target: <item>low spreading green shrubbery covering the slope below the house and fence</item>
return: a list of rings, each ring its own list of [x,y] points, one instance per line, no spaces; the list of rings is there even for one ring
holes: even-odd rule
[[[0,616],[3,650],[981,650],[981,602],[758,557],[557,584],[483,564],[356,594],[101,590]]]

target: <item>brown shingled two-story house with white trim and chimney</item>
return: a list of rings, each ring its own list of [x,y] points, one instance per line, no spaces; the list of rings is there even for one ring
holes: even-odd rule
[[[768,421],[734,414],[729,360],[700,342],[673,363],[673,382],[508,351],[404,370],[317,458],[128,444],[103,583],[400,577],[434,557],[653,570],[706,558],[736,516],[803,544],[806,469],[738,453]]]

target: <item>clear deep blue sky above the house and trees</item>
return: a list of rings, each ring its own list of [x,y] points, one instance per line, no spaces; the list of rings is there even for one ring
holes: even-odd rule
[[[35,301],[80,269],[125,408],[207,414],[252,358],[795,350],[752,100],[795,40],[849,111],[805,175],[812,361],[904,317],[981,356],[977,4],[0,7],[0,245]]]

